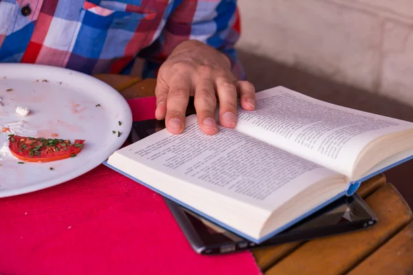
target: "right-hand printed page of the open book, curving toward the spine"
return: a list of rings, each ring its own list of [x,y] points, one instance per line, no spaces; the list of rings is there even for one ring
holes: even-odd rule
[[[257,93],[255,111],[238,111],[237,131],[352,177],[361,150],[413,124],[337,106],[284,87]]]

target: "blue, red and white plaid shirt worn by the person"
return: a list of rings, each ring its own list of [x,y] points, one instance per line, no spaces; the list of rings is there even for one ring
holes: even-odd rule
[[[236,0],[0,0],[0,62],[128,74],[140,57],[146,78],[176,45],[196,39],[229,56],[244,78],[239,34]]]

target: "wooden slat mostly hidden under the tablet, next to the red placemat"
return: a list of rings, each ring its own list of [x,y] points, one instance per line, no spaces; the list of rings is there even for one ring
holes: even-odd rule
[[[372,192],[378,190],[384,185],[385,176],[383,174],[377,175],[376,177],[373,177],[372,179],[369,179],[361,184],[359,190],[357,190],[357,194],[362,198],[366,198],[368,195],[372,194]],[[284,258],[284,256],[288,255],[290,252],[293,252],[293,250],[297,249],[303,243],[303,241],[297,241],[294,243],[284,243],[282,245],[257,249],[253,251],[253,256],[255,257],[257,265],[261,268],[261,270],[266,271],[269,267],[275,265],[275,263]]]

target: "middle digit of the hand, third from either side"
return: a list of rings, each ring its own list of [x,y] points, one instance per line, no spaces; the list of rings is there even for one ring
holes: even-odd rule
[[[217,99],[211,78],[203,78],[195,83],[195,98],[193,101],[201,131],[207,135],[218,133],[215,121]]]

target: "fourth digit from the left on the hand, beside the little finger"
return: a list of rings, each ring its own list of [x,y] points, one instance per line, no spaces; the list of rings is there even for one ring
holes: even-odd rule
[[[234,128],[237,124],[237,88],[233,81],[226,77],[217,78],[215,85],[220,99],[220,124]]]

